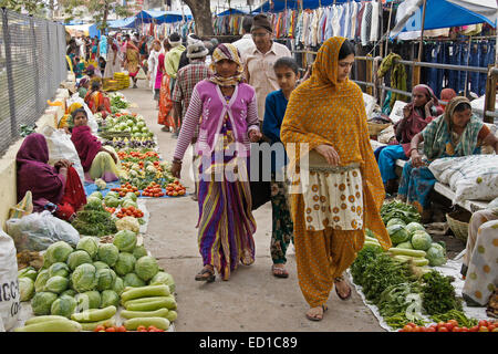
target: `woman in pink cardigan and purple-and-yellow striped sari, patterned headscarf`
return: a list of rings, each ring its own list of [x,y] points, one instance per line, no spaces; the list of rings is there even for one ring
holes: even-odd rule
[[[195,152],[203,162],[197,227],[204,268],[196,280],[208,282],[215,280],[215,269],[228,280],[239,261],[255,262],[256,221],[247,164],[249,143],[261,137],[255,90],[241,83],[243,67],[237,49],[220,44],[212,59],[214,76],[194,88],[172,167],[179,178],[181,159],[198,126]]]

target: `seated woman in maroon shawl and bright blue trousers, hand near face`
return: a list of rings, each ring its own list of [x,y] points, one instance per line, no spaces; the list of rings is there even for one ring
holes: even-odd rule
[[[412,102],[403,108],[403,118],[394,125],[396,140],[394,144],[380,147],[378,169],[386,192],[396,191],[396,159],[409,158],[409,142],[430,123],[443,114],[437,97],[427,85],[416,85],[412,91]]]

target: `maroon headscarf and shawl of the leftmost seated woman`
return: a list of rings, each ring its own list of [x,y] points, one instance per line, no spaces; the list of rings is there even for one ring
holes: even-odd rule
[[[51,201],[59,204],[64,194],[64,177],[49,163],[49,146],[42,134],[33,133],[22,142],[15,156],[18,165],[18,202],[28,190],[38,208]]]

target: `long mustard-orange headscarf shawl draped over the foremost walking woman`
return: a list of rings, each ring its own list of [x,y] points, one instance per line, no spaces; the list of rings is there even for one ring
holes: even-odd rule
[[[298,153],[289,154],[290,168],[295,168],[300,143],[312,150],[321,144],[331,145],[341,158],[341,166],[360,164],[363,176],[365,228],[375,232],[384,249],[391,239],[381,219],[385,191],[381,173],[370,145],[365,104],[361,88],[349,79],[338,81],[339,52],[346,41],[333,37],[320,48],[313,73],[290,96],[280,137],[289,145],[298,143]],[[288,148],[289,147],[289,148]]]

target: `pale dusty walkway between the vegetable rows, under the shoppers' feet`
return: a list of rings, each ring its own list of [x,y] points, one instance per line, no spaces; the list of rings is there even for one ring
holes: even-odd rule
[[[156,103],[152,90],[144,88],[145,85],[144,81],[139,81],[139,88],[128,88],[123,94],[138,105],[132,111],[145,117],[147,126],[158,138],[163,158],[170,160],[177,140],[157,125]],[[193,191],[194,184],[187,174],[190,166],[188,160],[184,159],[181,183],[186,185],[187,191]],[[185,197],[147,200],[146,206],[151,221],[145,246],[176,281],[176,331],[384,331],[354,290],[352,299],[346,302],[339,300],[333,291],[322,322],[311,322],[304,317],[308,304],[298,285],[292,246],[289,248],[287,267],[290,277],[276,279],[270,272],[270,204],[255,212],[258,223],[255,264],[240,266],[227,282],[217,278],[216,282],[209,284],[194,281],[194,275],[203,266],[195,228],[197,202]]]

